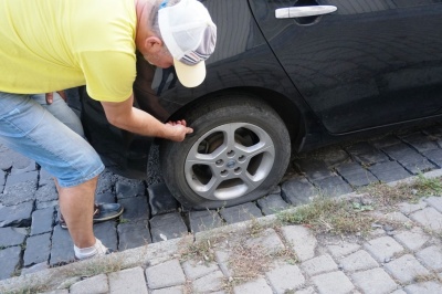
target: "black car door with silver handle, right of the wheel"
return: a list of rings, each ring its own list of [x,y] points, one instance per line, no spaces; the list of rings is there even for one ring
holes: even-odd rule
[[[328,132],[422,118],[441,108],[442,0],[249,2]],[[309,17],[299,17],[305,7]]]

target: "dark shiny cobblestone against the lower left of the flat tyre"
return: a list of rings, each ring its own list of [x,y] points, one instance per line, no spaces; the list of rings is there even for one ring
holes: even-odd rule
[[[177,211],[178,201],[170,193],[166,183],[159,182],[147,187],[149,195],[150,211],[152,216]]]

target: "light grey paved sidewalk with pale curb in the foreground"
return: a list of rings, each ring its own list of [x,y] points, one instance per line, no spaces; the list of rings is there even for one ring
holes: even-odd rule
[[[442,293],[442,198],[382,214],[366,237],[273,214],[3,280],[0,293]]]

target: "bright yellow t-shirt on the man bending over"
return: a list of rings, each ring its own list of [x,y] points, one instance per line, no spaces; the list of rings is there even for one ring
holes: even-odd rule
[[[134,0],[1,0],[0,91],[86,85],[97,101],[128,98],[136,22]]]

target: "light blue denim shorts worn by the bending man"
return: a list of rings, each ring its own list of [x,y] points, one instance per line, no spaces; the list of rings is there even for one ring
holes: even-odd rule
[[[77,186],[104,170],[80,119],[57,94],[46,105],[44,94],[0,92],[0,143],[35,160],[61,187]]]

